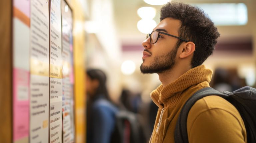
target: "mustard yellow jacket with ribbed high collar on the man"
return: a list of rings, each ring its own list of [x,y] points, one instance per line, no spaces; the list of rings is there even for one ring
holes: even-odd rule
[[[171,76],[171,75],[170,75]],[[199,89],[209,87],[212,70],[193,68],[174,82],[151,93],[159,107],[151,143],[174,143],[174,130],[181,108]],[[225,99],[207,96],[190,109],[187,119],[189,143],[246,143],[244,122],[237,109]]]

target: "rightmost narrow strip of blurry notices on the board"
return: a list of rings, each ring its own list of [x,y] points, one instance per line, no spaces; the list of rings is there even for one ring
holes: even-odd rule
[[[62,13],[62,60],[63,60],[63,143],[74,142],[74,84],[73,84],[73,36],[72,12],[61,0]]]

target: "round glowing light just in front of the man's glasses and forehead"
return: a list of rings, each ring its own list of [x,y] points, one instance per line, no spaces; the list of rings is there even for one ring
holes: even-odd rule
[[[148,34],[156,27],[156,22],[153,19],[142,19],[138,21],[137,28],[140,32]]]

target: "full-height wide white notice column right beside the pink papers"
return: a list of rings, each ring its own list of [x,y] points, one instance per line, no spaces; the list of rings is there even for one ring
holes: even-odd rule
[[[49,141],[49,3],[31,0],[30,142]]]

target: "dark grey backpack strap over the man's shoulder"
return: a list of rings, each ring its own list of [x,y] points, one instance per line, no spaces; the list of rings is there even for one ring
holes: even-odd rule
[[[209,95],[217,95],[223,98],[227,98],[228,95],[220,93],[219,91],[211,88],[206,87],[196,91],[184,104],[181,109],[178,121],[176,123],[175,132],[174,132],[174,139],[175,143],[188,143],[188,134],[187,134],[187,117],[189,110],[194,105],[194,103],[206,96]]]

